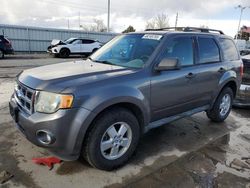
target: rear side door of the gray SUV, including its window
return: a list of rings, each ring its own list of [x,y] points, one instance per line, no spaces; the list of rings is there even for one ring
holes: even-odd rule
[[[197,61],[194,69],[196,105],[208,105],[218,91],[219,80],[227,70],[227,63],[222,61],[221,51],[213,36],[196,37]]]

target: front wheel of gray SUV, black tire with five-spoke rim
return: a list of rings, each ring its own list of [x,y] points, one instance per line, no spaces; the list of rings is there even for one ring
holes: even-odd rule
[[[123,128],[121,129],[121,127]],[[119,143],[119,137],[113,136],[112,138],[109,136],[118,136],[119,130],[125,131],[125,129],[127,131],[121,139],[123,138],[126,142]],[[94,121],[92,129],[88,132],[84,141],[82,156],[93,167],[110,171],[122,166],[130,159],[137,147],[139,138],[140,127],[136,117],[127,109],[113,108],[101,114]],[[104,143],[109,143],[109,145]],[[126,145],[126,147],[122,145]]]

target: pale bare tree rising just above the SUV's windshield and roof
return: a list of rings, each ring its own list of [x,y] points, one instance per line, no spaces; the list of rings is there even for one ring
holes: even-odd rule
[[[156,15],[147,21],[146,29],[160,29],[164,27],[169,27],[169,18],[165,13]]]

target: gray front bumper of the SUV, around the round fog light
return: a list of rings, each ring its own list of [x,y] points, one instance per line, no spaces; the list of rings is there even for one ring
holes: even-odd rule
[[[11,98],[9,105],[17,128],[30,142],[46,148],[63,160],[71,161],[79,158],[82,140],[90,123],[89,117],[92,115],[90,111],[84,108],[72,108],[58,110],[53,114],[35,112],[28,115],[18,108],[14,98]],[[13,110],[15,107],[18,109]],[[46,145],[38,140],[37,132],[41,130],[53,136],[53,143]]]

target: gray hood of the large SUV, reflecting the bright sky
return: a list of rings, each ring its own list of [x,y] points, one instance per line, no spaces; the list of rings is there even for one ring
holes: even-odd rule
[[[66,88],[133,72],[134,69],[82,60],[24,70],[18,80],[32,89],[61,92]]]

